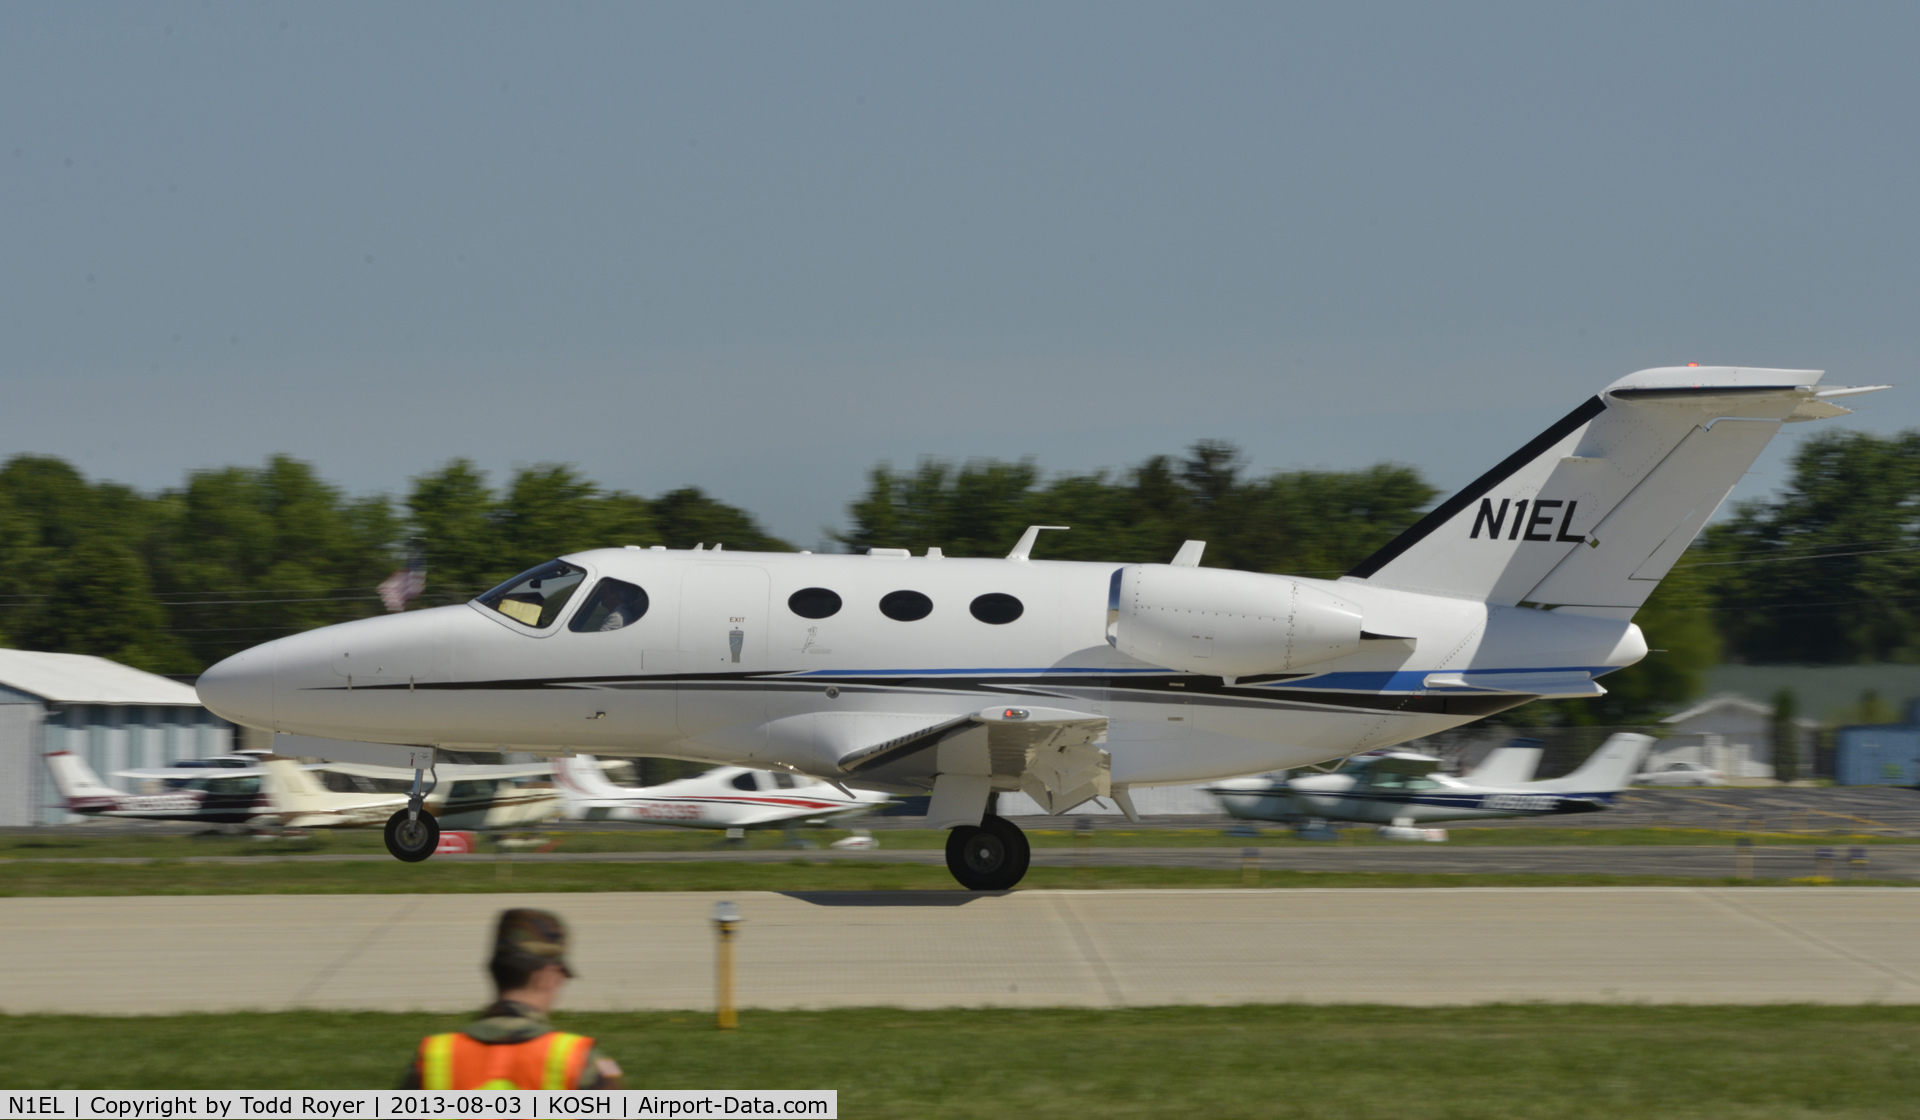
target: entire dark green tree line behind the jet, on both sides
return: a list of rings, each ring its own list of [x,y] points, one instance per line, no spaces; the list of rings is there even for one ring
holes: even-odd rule
[[[1219,442],[1091,475],[925,461],[876,467],[837,542],[1004,555],[1027,524],[1069,524],[1043,534],[1035,557],[1150,563],[1204,540],[1210,567],[1336,576],[1436,498],[1411,467],[1256,475]],[[455,459],[405,496],[355,498],[284,455],[196,471],[157,494],[17,455],[0,467],[0,561],[12,574],[0,642],[196,672],[269,638],[378,613],[376,586],[405,563],[426,569],[422,607],[566,551],[697,542],[793,548],[701,490],[645,498],[551,463],[493,486]],[[1916,611],[1920,432],[1812,438],[1791,482],[1713,524],[1640,611],[1659,653],[1611,674],[1599,703],[1534,707],[1571,722],[1644,718],[1695,695],[1722,657],[1920,661]]]

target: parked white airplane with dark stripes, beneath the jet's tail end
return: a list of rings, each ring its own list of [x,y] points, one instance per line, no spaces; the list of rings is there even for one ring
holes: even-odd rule
[[[1319,818],[1409,828],[1438,820],[1596,813],[1613,807],[1649,745],[1651,736],[1620,732],[1578,770],[1546,782],[1513,780],[1519,772],[1532,774],[1540,763],[1536,747],[1513,747],[1509,755],[1496,751],[1465,778],[1440,774],[1440,759],[1432,755],[1373,751],[1350,759],[1332,774],[1235,778],[1215,782],[1208,791],[1242,820]]]

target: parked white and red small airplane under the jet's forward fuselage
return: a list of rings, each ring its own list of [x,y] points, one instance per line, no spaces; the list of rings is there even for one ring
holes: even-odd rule
[[[714,767],[693,778],[630,790],[607,780],[593,755],[555,759],[553,782],[572,820],[647,820],[682,828],[780,828],[860,816],[893,797],[841,791],[806,774]]]

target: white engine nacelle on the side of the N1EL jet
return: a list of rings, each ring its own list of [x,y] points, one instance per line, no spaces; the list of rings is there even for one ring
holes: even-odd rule
[[[1288,672],[1359,653],[1359,607],[1286,576],[1127,565],[1108,592],[1106,640],[1185,672]]]

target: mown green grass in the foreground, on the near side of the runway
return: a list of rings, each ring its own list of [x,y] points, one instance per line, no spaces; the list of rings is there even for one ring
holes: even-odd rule
[[[434,1014],[0,1016],[6,1089],[357,1089]],[[1920,1007],[1488,1005],[566,1014],[645,1089],[839,1089],[843,1116],[1912,1114]]]

